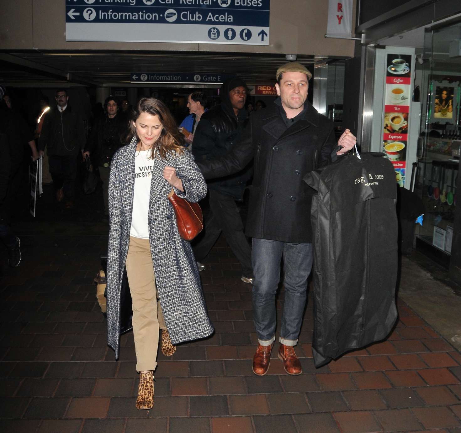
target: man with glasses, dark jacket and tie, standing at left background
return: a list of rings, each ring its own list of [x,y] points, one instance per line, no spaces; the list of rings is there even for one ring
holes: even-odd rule
[[[56,106],[45,120],[40,135],[40,154],[47,147],[48,161],[56,199],[66,199],[65,207],[74,203],[75,178],[77,176],[77,155],[85,146],[83,121],[77,110],[68,105],[69,96],[65,89],[56,92]]]

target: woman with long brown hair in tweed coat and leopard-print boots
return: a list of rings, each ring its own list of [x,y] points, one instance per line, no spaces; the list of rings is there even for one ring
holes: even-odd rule
[[[139,101],[130,136],[110,171],[107,340],[118,358],[120,334],[133,328],[140,373],[136,408],[151,409],[160,329],[165,356],[177,343],[213,333],[194,254],[167,199],[172,188],[198,202],[207,186],[160,100]]]

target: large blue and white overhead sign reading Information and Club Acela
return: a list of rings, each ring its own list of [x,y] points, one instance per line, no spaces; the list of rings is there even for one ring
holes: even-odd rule
[[[270,0],[66,0],[66,41],[269,45]]]

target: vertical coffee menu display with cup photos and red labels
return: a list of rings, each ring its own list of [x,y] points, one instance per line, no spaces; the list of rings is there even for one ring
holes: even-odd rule
[[[411,55],[388,54],[384,96],[383,152],[394,166],[396,182],[401,187],[405,185],[411,94]]]

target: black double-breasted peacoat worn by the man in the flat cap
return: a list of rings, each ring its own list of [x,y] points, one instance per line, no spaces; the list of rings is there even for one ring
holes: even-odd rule
[[[311,243],[314,190],[302,178],[335,157],[333,124],[306,102],[304,118],[287,128],[279,99],[256,111],[227,155],[197,165],[205,178],[242,170],[254,158],[246,234],[253,238]]]

